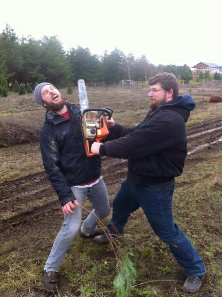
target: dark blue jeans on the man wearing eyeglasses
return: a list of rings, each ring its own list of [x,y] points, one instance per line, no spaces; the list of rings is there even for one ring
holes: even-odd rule
[[[168,189],[151,186],[131,187],[124,180],[113,200],[113,214],[107,229],[111,234],[124,234],[130,213],[141,207],[156,235],[169,248],[188,277],[205,273],[203,260],[183,231],[173,221],[172,196],[174,185]]]

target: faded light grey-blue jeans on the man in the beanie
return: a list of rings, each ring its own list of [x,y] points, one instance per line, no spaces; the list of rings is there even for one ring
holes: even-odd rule
[[[99,219],[103,219],[110,214],[107,188],[102,179],[92,187],[71,187],[71,189],[81,206],[83,196],[86,194],[93,206],[92,213]],[[61,265],[64,254],[79,231],[82,219],[82,209],[75,207],[73,211],[74,213],[71,215],[64,214],[63,226],[54,240],[50,255],[46,261],[45,271],[59,271],[59,266]],[[87,236],[93,235],[95,233],[96,225],[96,218],[90,213],[85,219],[81,231]]]

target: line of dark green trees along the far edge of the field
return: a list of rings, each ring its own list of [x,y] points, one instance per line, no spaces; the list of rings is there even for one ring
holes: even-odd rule
[[[135,58],[132,53],[125,55],[115,48],[98,56],[81,46],[65,51],[57,36],[18,38],[8,24],[0,33],[0,76],[3,75],[10,86],[17,81],[26,88],[29,83],[33,88],[37,83],[48,81],[63,87],[69,82],[75,85],[78,79],[84,79],[89,86],[114,85],[121,80],[147,84],[151,76],[164,71],[174,73],[184,83],[193,78],[186,64],[155,66],[144,54]]]

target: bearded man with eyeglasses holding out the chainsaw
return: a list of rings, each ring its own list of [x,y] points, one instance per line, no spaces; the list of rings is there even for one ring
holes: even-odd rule
[[[107,229],[113,236],[124,234],[130,213],[141,207],[156,235],[184,269],[184,291],[196,292],[205,277],[203,260],[173,220],[174,178],[183,171],[187,155],[186,127],[195,103],[188,94],[178,96],[176,76],[159,73],[149,80],[150,112],[137,126],[123,127],[106,119],[110,129],[104,145],[94,143],[91,151],[108,157],[128,159],[127,179],[113,201],[112,219]],[[95,236],[105,243],[107,234]]]

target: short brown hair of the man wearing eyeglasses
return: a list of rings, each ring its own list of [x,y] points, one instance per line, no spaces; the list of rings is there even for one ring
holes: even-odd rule
[[[179,84],[176,76],[172,73],[163,72],[157,73],[155,76],[149,79],[149,85],[160,84],[161,88],[166,91],[173,90],[173,100],[177,99],[179,95]]]

